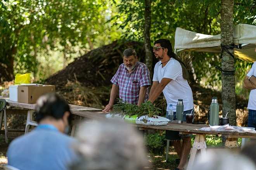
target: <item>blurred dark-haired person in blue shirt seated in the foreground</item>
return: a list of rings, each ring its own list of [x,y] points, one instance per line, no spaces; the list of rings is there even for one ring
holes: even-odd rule
[[[8,165],[21,170],[66,170],[76,160],[70,148],[74,139],[64,134],[71,122],[69,105],[55,93],[41,96],[37,104],[39,125],[10,143]]]

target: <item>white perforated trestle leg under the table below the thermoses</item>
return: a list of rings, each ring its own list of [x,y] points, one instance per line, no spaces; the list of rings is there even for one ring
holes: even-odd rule
[[[206,142],[205,142],[204,134],[196,134],[195,135],[195,141],[192,146],[192,151],[190,154],[187,170],[192,169],[193,163],[195,161],[195,156],[196,156],[198,150],[201,150],[202,155],[206,155]]]

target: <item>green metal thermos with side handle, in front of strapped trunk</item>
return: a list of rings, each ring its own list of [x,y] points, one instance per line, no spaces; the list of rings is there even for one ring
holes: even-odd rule
[[[209,124],[211,126],[217,126],[219,125],[219,104],[217,97],[213,97],[211,99],[211,105],[210,105],[210,113],[209,113]]]

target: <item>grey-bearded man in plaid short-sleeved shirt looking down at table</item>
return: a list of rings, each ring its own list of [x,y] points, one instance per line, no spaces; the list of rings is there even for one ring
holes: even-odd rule
[[[123,62],[111,79],[113,85],[109,104],[102,110],[103,112],[112,110],[118,91],[119,98],[130,104],[140,105],[148,99],[148,87],[151,83],[147,66],[138,62],[136,51],[131,48],[123,52]]]

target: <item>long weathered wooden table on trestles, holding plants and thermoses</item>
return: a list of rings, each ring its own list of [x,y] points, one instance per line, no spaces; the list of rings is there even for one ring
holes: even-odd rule
[[[28,110],[27,122],[33,121],[32,120],[32,112],[31,110],[36,109],[36,104],[25,104],[19,102],[11,102],[7,100],[7,103],[10,106],[20,107]],[[81,116],[88,119],[96,119],[96,120],[104,120],[106,119],[106,113],[100,112],[101,109],[95,109],[90,107],[82,107],[77,105],[70,105],[71,107],[71,114]],[[71,135],[74,134],[75,124],[72,127]],[[222,134],[230,138],[256,138],[255,133],[238,133],[238,132],[229,132],[229,131],[203,131],[200,130],[202,127],[209,127],[206,124],[176,124],[176,123],[168,123],[166,126],[145,126],[145,125],[138,125],[133,124],[133,126],[140,127],[142,129],[160,129],[160,130],[173,130],[173,131],[180,131],[180,133],[186,134],[195,134],[194,144],[192,146],[192,151],[189,158],[189,164],[187,170],[192,168],[192,165],[195,160],[195,156],[197,151],[201,150],[202,155],[206,155],[206,142],[205,142],[205,135],[206,134]],[[7,138],[7,136],[6,136]]]

